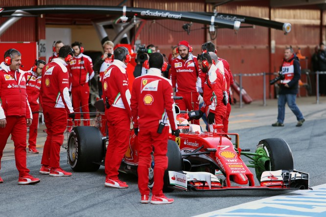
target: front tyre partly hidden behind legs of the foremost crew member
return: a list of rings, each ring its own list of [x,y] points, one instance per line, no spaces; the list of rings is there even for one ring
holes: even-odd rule
[[[178,144],[175,141],[168,140],[167,141],[167,153],[166,156],[168,158],[167,169],[164,172],[164,184],[163,184],[163,192],[173,192],[174,189],[169,188],[169,175],[168,171],[182,171],[182,157]],[[154,157],[152,155],[152,161],[154,161]],[[148,187],[152,188],[154,185],[154,170],[155,162],[151,163],[151,168],[149,168],[149,182]],[[151,174],[152,173],[152,174]]]

